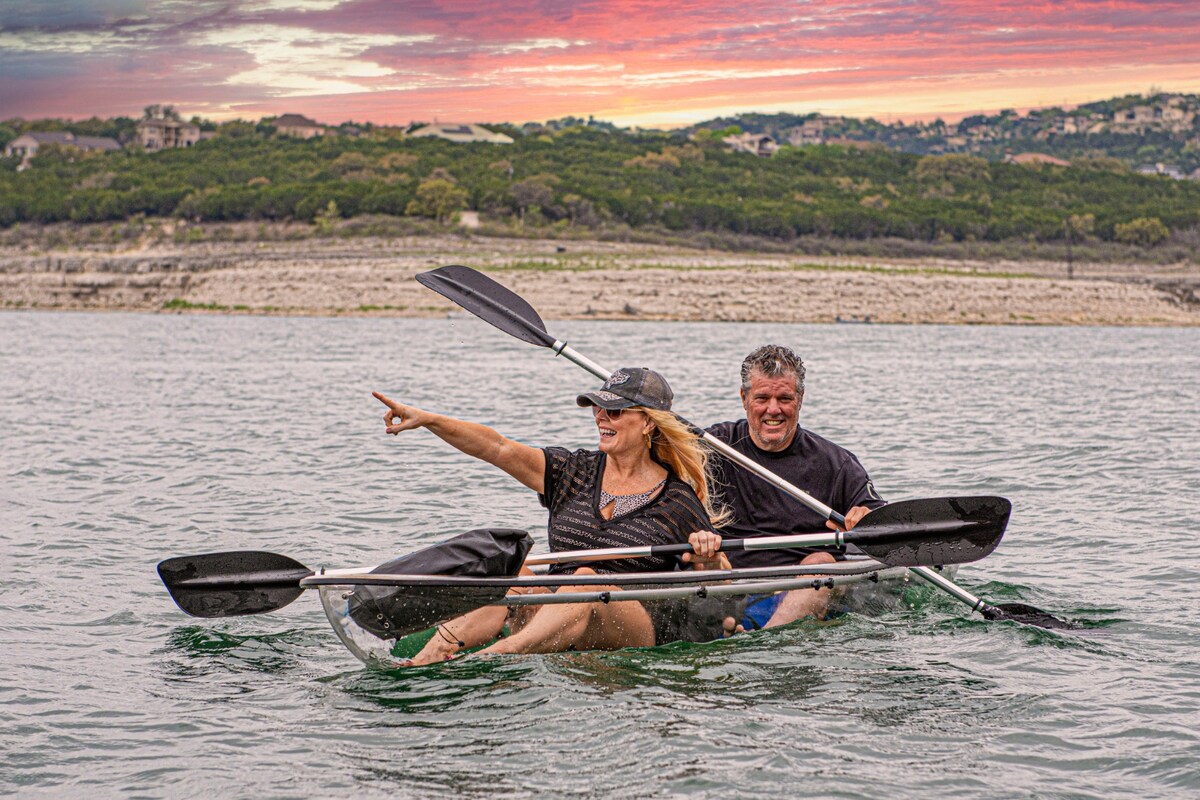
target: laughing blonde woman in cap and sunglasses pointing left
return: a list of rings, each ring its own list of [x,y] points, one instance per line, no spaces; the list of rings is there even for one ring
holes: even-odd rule
[[[388,407],[388,433],[427,428],[538,492],[550,510],[552,551],[686,542],[695,531],[712,531],[713,523],[720,519],[708,493],[708,453],[700,447],[696,434],[671,414],[671,386],[653,369],[618,369],[599,390],[576,398],[578,405],[592,407],[600,435],[595,451],[530,447],[476,422],[403,405],[379,392],[374,396]],[[712,559],[694,563],[708,566]],[[556,565],[552,572],[646,572],[674,566],[673,559],[652,557],[578,567]],[[619,589],[562,587],[558,591],[580,590]],[[439,625],[413,663],[442,661],[462,648],[486,644],[499,634],[506,618],[503,607],[484,607]],[[638,602],[533,607],[530,613],[515,615],[511,636],[484,652],[650,646],[674,638],[672,624],[667,615],[652,616]]]

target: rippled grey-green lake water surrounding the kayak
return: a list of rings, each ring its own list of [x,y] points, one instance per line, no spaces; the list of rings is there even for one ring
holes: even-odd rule
[[[592,446],[589,375],[472,319],[0,314],[0,794],[92,798],[1200,794],[1200,330],[553,323],[738,415],[767,341],[802,423],[889,499],[1003,494],[946,596],[703,645],[373,672],[314,596],[196,620],[168,557],[371,565],[535,497],[371,390]]]

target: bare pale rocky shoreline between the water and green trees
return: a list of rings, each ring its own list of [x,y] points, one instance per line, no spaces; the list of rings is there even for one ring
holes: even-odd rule
[[[456,236],[0,249],[0,309],[444,317],[413,276],[491,273],[547,319],[1200,325],[1200,266],[730,253]]]

